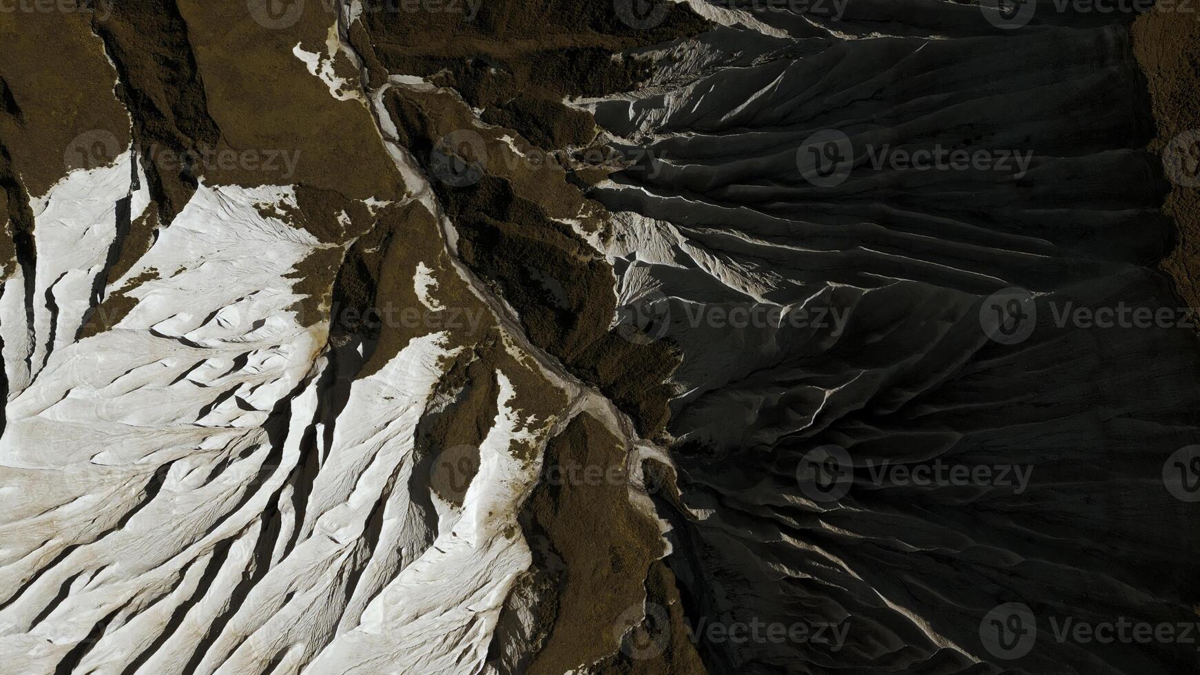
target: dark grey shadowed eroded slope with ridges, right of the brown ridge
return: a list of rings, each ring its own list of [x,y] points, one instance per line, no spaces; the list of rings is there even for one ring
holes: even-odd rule
[[[1054,632],[1068,617],[1196,621],[1198,508],[1163,469],[1200,438],[1200,360],[1187,325],[1057,325],[1122,306],[1187,321],[1156,270],[1174,233],[1159,213],[1169,183],[1144,150],[1154,122],[1133,17],[1037,10],[1016,30],[940,2],[851,1],[815,26],[760,13],[760,30],[788,34],[707,34],[690,56],[694,71],[712,65],[702,77],[680,70],[659,96],[596,104],[601,125],[660,159],[595,195],[654,219],[630,221],[630,239],[670,242],[617,253],[631,285],[671,297],[667,339],[685,355],[668,427],[685,508],[668,560],[690,620],[847,631],[844,645],[701,640],[713,673],[1200,665],[1194,644]],[[884,35],[859,38],[872,31]],[[848,135],[853,163],[820,187],[797,149],[828,129]],[[1024,175],[876,168],[886,145],[1032,159]],[[1002,343],[980,315],[1007,307],[988,299],[1009,287],[1031,332]],[[848,319],[695,319],[755,303]],[[834,472],[834,499],[811,499],[803,459],[827,445],[853,469]],[[992,478],[922,487],[880,474],[884,462]],[[1028,472],[1027,488],[1015,472],[1003,484],[1006,470]],[[1030,608],[1036,643],[1007,659],[980,625],[1010,602]]]

